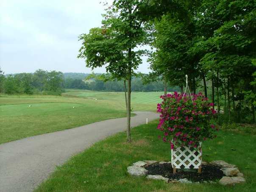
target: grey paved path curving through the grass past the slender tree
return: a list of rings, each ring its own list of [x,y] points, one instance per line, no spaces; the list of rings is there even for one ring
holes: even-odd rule
[[[134,112],[131,126],[154,120],[159,114]],[[126,118],[95,122],[0,145],[0,192],[30,192],[75,153],[109,135],[125,131]]]

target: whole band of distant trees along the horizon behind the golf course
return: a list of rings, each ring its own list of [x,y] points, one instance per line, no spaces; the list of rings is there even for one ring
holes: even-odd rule
[[[123,92],[122,81],[84,80],[86,73],[62,73],[57,71],[36,70],[34,73],[4,75],[0,70],[0,92],[6,94],[45,94],[61,95],[64,89],[88,89],[103,92]],[[131,91],[155,92],[164,91],[163,81],[143,84],[142,78],[132,78]],[[178,91],[178,86],[167,87],[168,92]]]

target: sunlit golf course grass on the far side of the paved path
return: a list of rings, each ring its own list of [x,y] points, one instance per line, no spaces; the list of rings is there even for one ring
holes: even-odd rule
[[[138,102],[132,103],[133,111],[155,111],[161,93],[132,95]],[[0,144],[125,115],[122,92],[70,89],[62,96],[0,95]]]

